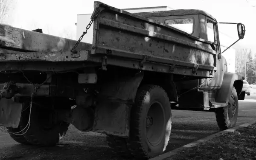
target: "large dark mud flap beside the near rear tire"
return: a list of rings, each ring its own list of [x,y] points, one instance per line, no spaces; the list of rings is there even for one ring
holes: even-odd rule
[[[142,79],[143,72],[105,84],[98,95],[94,132],[128,138],[131,107]]]

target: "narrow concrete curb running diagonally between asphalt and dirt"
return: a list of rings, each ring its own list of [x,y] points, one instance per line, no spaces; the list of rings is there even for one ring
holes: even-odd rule
[[[164,160],[164,159],[166,159],[166,158],[168,158],[168,157],[171,157],[171,156],[173,156],[173,155],[179,153],[179,152],[180,152],[181,150],[183,150],[183,149],[188,149],[188,148],[190,148],[190,147],[197,146],[199,143],[203,143],[203,142],[205,142],[205,141],[207,141],[207,140],[210,140],[210,139],[212,139],[212,138],[219,137],[219,136],[221,136],[221,135],[223,135],[223,134],[225,134],[225,133],[228,133],[228,132],[234,132],[234,131],[236,131],[237,129],[240,129],[240,128],[243,128],[243,127],[247,127],[247,126],[250,126],[250,125],[255,124],[255,123],[256,123],[256,122],[247,123],[247,124],[241,124],[240,126],[236,126],[236,127],[234,127],[234,128],[226,129],[226,130],[224,130],[224,131],[215,133],[215,134],[213,134],[213,135],[209,135],[208,137],[202,138],[202,139],[200,139],[200,140],[196,140],[196,141],[194,141],[194,142],[192,142],[192,143],[186,144],[185,146],[182,146],[182,147],[180,147],[180,148],[174,149],[174,150],[172,150],[172,151],[170,151],[170,152],[166,152],[166,153],[164,153],[164,154],[161,154],[161,155],[159,155],[159,156],[157,156],[157,157],[154,157],[154,158],[151,158],[151,159],[148,159],[148,160]]]

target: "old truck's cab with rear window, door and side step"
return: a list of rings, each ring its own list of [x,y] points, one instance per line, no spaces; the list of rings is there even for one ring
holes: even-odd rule
[[[204,46],[206,48],[212,49],[216,56],[214,57],[214,70],[212,72],[213,77],[208,79],[195,79],[189,81],[176,81],[175,84],[177,86],[177,92],[183,93],[184,91],[192,90],[193,88],[198,89],[195,90],[196,93],[191,92],[188,96],[180,96],[180,101],[182,104],[179,103],[179,109],[199,109],[198,103],[195,105],[191,105],[192,99],[194,96],[197,95],[200,97],[207,96],[206,99],[209,98],[209,105],[221,107],[218,102],[216,103],[216,94],[218,90],[221,89],[221,85],[226,85],[224,79],[224,73],[227,73],[227,61],[224,56],[221,55],[221,43],[219,39],[219,32],[218,32],[218,22],[217,20],[207,13],[206,11],[197,10],[197,9],[178,9],[178,10],[170,10],[170,11],[156,11],[156,12],[140,12],[135,13],[139,16],[149,18],[154,22],[160,22],[164,25],[168,25],[174,29],[179,30],[180,32],[185,33],[188,37],[191,36],[195,40],[193,41],[195,44]],[[207,58],[202,56],[202,54],[198,54],[197,56],[201,57],[201,60]],[[234,55],[235,56],[235,55]],[[198,63],[195,61],[195,63]],[[240,77],[240,76],[239,76]],[[240,77],[241,78],[241,77]],[[230,81],[234,78],[230,78]],[[241,81],[237,81],[239,86],[241,86]],[[189,85],[188,85],[189,84]],[[240,95],[241,87],[238,87],[237,94]],[[199,92],[203,92],[202,95]],[[244,99],[244,93],[241,95],[241,99]],[[185,101],[183,101],[183,99]],[[188,103],[187,100],[191,100]],[[225,100],[222,99],[221,102]],[[204,104],[206,105],[206,104]]]

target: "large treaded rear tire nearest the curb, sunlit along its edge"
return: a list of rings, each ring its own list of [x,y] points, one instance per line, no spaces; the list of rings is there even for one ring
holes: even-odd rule
[[[169,142],[171,117],[169,98],[162,87],[140,87],[131,109],[128,140],[131,153],[138,159],[148,159],[162,154]]]

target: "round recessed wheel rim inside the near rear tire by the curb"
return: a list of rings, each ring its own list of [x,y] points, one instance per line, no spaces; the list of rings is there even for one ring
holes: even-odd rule
[[[163,106],[154,101],[149,107],[146,118],[146,136],[152,146],[157,146],[163,140],[165,115]]]

